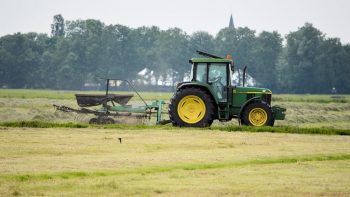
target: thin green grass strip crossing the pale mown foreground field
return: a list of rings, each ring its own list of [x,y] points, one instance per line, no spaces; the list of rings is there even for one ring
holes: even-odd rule
[[[234,161],[234,162],[214,162],[214,163],[188,163],[171,166],[146,166],[137,167],[133,169],[121,169],[117,171],[97,171],[97,172],[59,172],[49,174],[16,174],[16,175],[0,175],[2,179],[10,179],[16,181],[29,181],[29,180],[50,180],[50,179],[71,179],[82,177],[104,177],[104,176],[123,176],[129,174],[154,174],[164,173],[175,170],[210,170],[221,168],[232,168],[247,165],[264,165],[264,164],[279,164],[279,163],[298,163],[298,162],[312,162],[312,161],[337,161],[337,160],[350,160],[349,154],[323,154],[323,155],[302,155],[295,157],[277,157],[277,158],[261,158],[252,159],[246,161]]]

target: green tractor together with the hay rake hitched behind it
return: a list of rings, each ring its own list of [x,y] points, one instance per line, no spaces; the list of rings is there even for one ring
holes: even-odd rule
[[[273,126],[275,120],[284,120],[285,108],[271,106],[272,92],[267,88],[245,87],[245,69],[243,86],[232,83],[234,62],[230,56],[218,57],[197,51],[201,58],[189,60],[192,65],[189,81],[178,83],[176,92],[168,105],[170,120],[162,120],[165,102],[155,100],[146,103],[132,84],[126,80],[133,91],[142,100],[142,106],[127,105],[132,94],[110,94],[110,80],[106,79],[106,93],[76,94],[81,109],[57,106],[65,112],[94,114],[90,124],[113,124],[119,116],[150,118],[156,116],[157,124],[172,123],[179,127],[208,127],[214,120],[221,122],[238,119],[240,124],[249,126]],[[98,106],[99,110],[86,107]]]

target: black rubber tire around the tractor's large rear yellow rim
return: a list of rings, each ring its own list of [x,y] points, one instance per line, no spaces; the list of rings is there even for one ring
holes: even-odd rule
[[[179,102],[186,96],[199,97],[202,100],[202,102],[205,104],[205,114],[198,122],[189,123],[180,118],[179,112],[177,110],[178,105],[179,105]],[[189,88],[178,90],[174,94],[173,98],[170,100],[170,104],[169,104],[169,118],[173,126],[209,127],[213,123],[214,113],[215,113],[214,101],[211,98],[211,96],[206,91],[195,87],[189,87]]]

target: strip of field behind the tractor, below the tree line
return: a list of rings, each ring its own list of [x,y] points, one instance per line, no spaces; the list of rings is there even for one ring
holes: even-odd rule
[[[45,121],[87,123],[91,116],[58,112],[53,104],[78,108],[74,94],[104,92],[78,92],[54,90],[13,90],[0,89],[0,122]],[[113,92],[130,93],[130,92]],[[169,102],[172,93],[140,92],[148,102],[162,99]],[[273,105],[287,108],[284,121],[276,121],[276,126],[303,128],[350,128],[350,95],[273,95]],[[137,95],[130,101],[133,105],[143,105]],[[165,109],[166,111],[166,109]],[[164,118],[167,118],[164,115]],[[124,120],[121,120],[123,122]],[[132,124],[154,124],[154,121],[135,121]],[[234,125],[236,120],[227,123],[214,122],[215,126]]]

